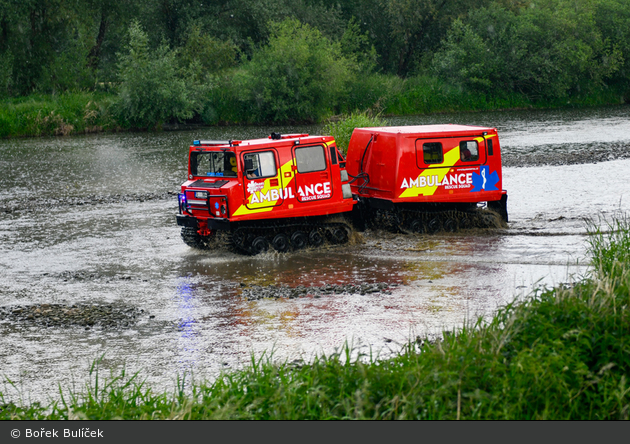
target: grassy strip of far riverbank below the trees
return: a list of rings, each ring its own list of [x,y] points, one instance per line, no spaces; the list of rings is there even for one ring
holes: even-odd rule
[[[519,94],[490,97],[463,91],[436,79],[399,79],[380,76],[366,80],[364,91],[350,91],[339,111],[349,115],[357,110],[387,116],[477,112],[508,109],[547,109],[590,107],[624,103],[623,95],[607,89],[597,94],[551,101],[534,101]],[[58,95],[31,95],[0,101],[0,138],[68,136],[97,132],[146,131],[194,126],[257,124],[244,111],[243,104],[224,97],[210,97],[201,115],[189,122],[155,122],[150,128],[134,128],[119,121],[114,111],[117,96],[111,92],[76,92]],[[221,103],[213,103],[221,100]],[[246,108],[246,107],[245,107]],[[314,117],[322,122],[333,116]],[[335,119],[333,118],[333,121]],[[282,125],[296,122],[273,122]],[[312,123],[312,121],[309,121]]]

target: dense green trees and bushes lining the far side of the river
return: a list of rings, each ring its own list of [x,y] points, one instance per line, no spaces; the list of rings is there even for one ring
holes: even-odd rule
[[[630,3],[0,0],[3,108],[97,92],[142,128],[619,103]]]

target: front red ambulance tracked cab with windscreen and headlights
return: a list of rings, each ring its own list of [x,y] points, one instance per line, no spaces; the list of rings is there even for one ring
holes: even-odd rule
[[[257,254],[344,243],[353,199],[345,162],[329,136],[280,135],[199,141],[189,149],[177,224],[187,245],[208,248],[217,232]]]

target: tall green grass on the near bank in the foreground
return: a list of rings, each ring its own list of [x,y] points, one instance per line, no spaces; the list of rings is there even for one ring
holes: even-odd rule
[[[0,419],[628,419],[630,220],[593,228],[593,273],[537,291],[444,339],[379,361],[351,350],[314,363],[252,362],[154,393],[137,375],[98,379],[50,406],[0,398]]]

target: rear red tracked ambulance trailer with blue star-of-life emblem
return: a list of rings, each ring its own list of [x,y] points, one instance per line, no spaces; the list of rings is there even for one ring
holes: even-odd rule
[[[359,220],[374,226],[431,233],[507,222],[496,128],[356,128],[346,160]]]

